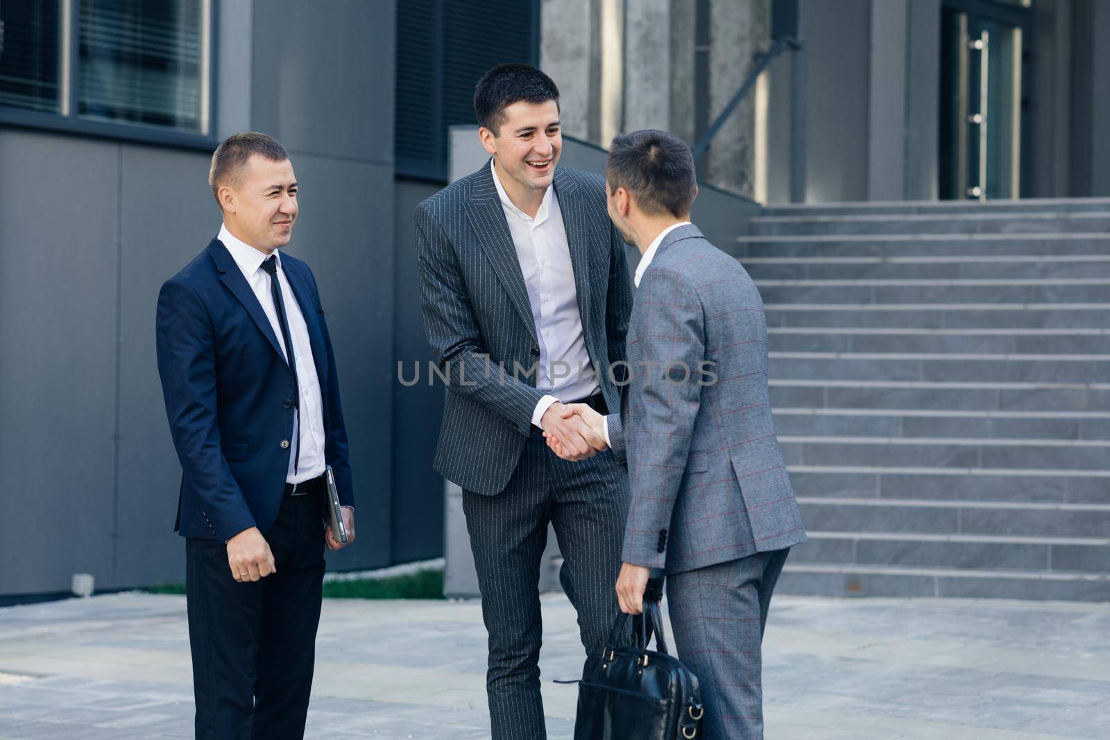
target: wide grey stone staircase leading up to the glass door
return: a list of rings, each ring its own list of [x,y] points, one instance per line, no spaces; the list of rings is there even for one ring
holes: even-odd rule
[[[1110,600],[1110,199],[770,207],[778,590]]]

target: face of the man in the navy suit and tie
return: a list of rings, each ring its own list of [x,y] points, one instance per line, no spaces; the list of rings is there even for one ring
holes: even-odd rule
[[[296,191],[292,162],[252,154],[220,185],[218,196],[229,231],[269,254],[293,236]]]

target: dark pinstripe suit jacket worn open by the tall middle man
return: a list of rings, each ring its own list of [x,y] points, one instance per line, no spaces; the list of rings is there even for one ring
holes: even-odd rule
[[[601,175],[556,168],[578,312],[606,404],[619,391],[632,311],[626,246],[605,209]],[[448,392],[434,466],[467,490],[502,491],[532,433],[539,345],[516,247],[488,162],[416,207],[424,331]],[[574,371],[576,372],[576,369]]]

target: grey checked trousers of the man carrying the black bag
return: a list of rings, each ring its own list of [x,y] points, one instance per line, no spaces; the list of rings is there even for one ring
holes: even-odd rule
[[[789,551],[667,576],[675,648],[702,687],[707,739],[763,740],[763,635]]]

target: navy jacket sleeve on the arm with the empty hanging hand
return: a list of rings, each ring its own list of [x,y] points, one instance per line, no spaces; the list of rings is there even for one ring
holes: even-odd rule
[[[188,489],[200,496],[215,538],[228,541],[253,527],[254,518],[220,448],[212,323],[184,282],[162,285],[155,334],[165,414]]]

